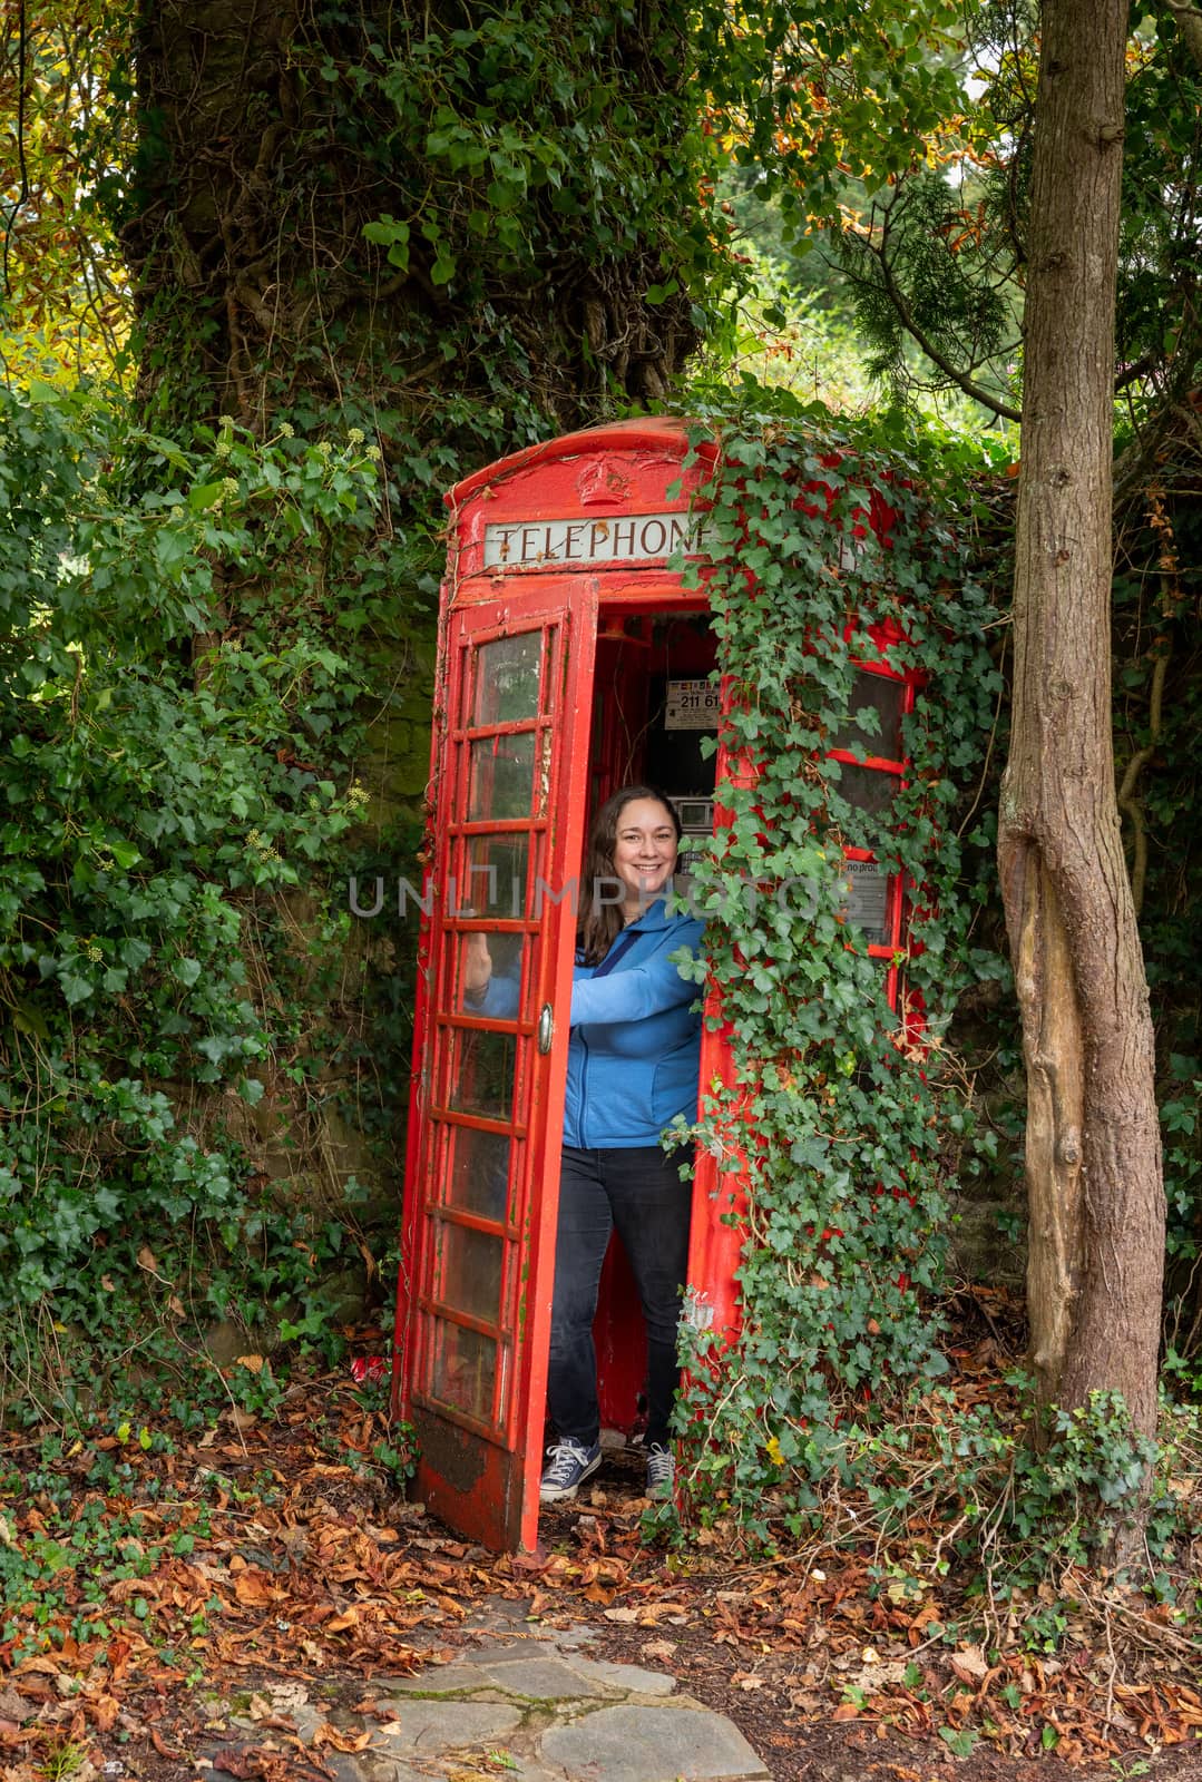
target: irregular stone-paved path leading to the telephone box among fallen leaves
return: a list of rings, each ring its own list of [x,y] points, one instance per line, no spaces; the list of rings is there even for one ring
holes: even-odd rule
[[[523,1634],[499,1600],[473,1622],[478,1645],[451,1663],[371,1679],[394,1718],[355,1755],[323,1748],[339,1782],[767,1782],[742,1732],[674,1677],[589,1657],[590,1629]]]

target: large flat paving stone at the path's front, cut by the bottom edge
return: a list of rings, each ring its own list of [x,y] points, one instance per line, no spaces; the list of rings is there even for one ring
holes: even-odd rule
[[[694,1782],[767,1777],[762,1759],[722,1714],[681,1707],[599,1707],[551,1727],[539,1753],[590,1782]]]

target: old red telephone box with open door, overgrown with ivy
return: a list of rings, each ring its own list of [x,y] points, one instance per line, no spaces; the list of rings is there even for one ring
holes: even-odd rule
[[[717,444],[678,421],[567,435],[505,458],[448,495],[423,891],[414,1073],[405,1165],[394,1404],[421,1449],[417,1490],[444,1522],[494,1549],[531,1549],[539,1524],[567,1075],[574,891],[590,813],[630,781],[674,800],[685,848],[722,822],[745,766],[704,754],[720,693],[704,586],[669,560],[704,560],[692,503]],[[870,515],[885,531],[892,517]],[[704,581],[704,577],[703,577]],[[895,636],[895,633],[892,634]],[[860,666],[852,709],[874,706],[888,754],[851,731],[831,750],[845,797],[881,807],[904,779],[901,720],[915,675]],[[897,994],[904,886],[847,852],[849,912]],[[519,982],[512,1019],[464,1000],[464,957],[485,932]],[[719,989],[708,1007],[719,1009]],[[726,1034],[703,1035],[701,1082],[733,1080]],[[724,1222],[735,1171],[697,1157],[685,1315],[738,1322],[742,1233]],[[638,1429],[642,1313],[619,1249],[597,1312],[601,1417]]]

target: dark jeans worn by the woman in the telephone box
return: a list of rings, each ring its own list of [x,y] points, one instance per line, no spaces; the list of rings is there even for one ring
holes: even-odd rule
[[[592,1320],[613,1228],[647,1322],[647,1445],[669,1438],[692,1206],[692,1183],[679,1180],[685,1160],[683,1151],[669,1157],[658,1144],[624,1151],[564,1146],[547,1408],[560,1436],[585,1447],[601,1429]]]

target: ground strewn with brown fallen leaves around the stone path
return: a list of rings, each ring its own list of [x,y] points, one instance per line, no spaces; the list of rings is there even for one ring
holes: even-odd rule
[[[337,1374],[193,1433],[2,1436],[0,1778],[335,1777],[378,1730],[373,1680],[453,1657],[499,1602],[671,1673],[778,1782],[1202,1782],[1200,1631],[1145,1598],[1065,1577],[1054,1638],[990,1645],[951,1577],[890,1590],[870,1543],[649,1545],[628,1454],[537,1556],[498,1557],[396,1497],[385,1435]],[[305,1741],[289,1700],[317,1711]]]

